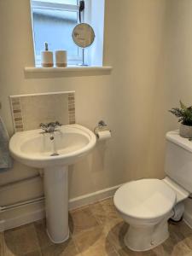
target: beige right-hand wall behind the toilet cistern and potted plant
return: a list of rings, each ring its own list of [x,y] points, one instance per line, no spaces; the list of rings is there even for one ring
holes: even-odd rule
[[[164,108],[177,106],[181,99],[192,105],[192,1],[167,1],[164,50]],[[166,115],[166,127],[175,127],[175,119]],[[191,224],[192,203],[186,201],[185,212]]]

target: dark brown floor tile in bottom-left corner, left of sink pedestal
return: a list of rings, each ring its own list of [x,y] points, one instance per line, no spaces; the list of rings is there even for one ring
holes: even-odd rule
[[[5,254],[23,255],[38,251],[38,237],[34,224],[4,232]]]

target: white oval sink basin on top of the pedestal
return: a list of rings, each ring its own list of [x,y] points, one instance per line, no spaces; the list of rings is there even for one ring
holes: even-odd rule
[[[54,140],[50,137],[41,129],[16,132],[9,150],[24,165],[45,168],[71,165],[96,144],[94,133],[81,125],[62,125],[55,131]]]

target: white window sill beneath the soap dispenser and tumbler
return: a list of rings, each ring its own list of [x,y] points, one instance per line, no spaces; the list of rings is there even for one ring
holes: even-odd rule
[[[90,67],[90,66],[77,66],[77,67],[25,67],[25,73],[110,73],[113,69],[111,66],[103,67]]]

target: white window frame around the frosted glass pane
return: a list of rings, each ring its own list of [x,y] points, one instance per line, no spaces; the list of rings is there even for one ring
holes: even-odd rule
[[[66,4],[66,3],[51,3],[49,2],[49,0],[47,0],[46,2],[31,0],[31,10],[33,8],[39,8],[39,9],[51,9],[51,10],[77,12],[78,23],[79,23],[79,1],[80,0],[77,0],[77,5],[74,5],[74,4]],[[35,64],[36,64],[36,67],[39,67],[41,66],[41,55],[36,55],[33,15],[32,15],[32,35],[33,35]],[[83,63],[83,49],[78,47],[78,55],[76,55],[75,57],[68,56],[68,61],[70,62],[69,65],[79,65]]]

